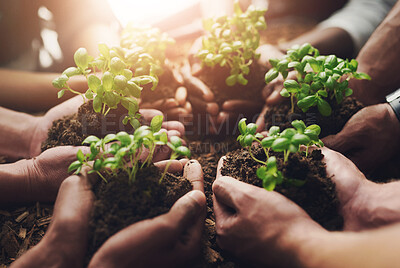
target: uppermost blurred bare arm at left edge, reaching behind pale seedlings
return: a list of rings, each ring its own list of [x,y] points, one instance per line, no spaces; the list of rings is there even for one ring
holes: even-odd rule
[[[27,112],[46,111],[74,95],[66,92],[62,99],[52,81],[58,73],[34,73],[0,69],[0,106]],[[71,77],[69,85],[74,90],[85,92],[84,77]]]

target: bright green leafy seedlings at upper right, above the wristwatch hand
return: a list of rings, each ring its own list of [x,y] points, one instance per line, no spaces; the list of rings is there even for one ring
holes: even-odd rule
[[[371,79],[365,73],[357,73],[356,60],[343,60],[335,55],[321,56],[318,49],[307,43],[293,46],[283,59],[271,59],[270,63],[273,68],[265,75],[267,84],[277,78],[279,73],[286,79],[290,71],[296,71],[297,81],[284,81],[281,91],[283,97],[290,97],[291,113],[294,113],[297,102],[303,112],[317,106],[321,115],[329,116],[332,113],[329,100],[335,98],[340,104],[344,97],[353,94],[353,90],[348,87],[350,79]]]

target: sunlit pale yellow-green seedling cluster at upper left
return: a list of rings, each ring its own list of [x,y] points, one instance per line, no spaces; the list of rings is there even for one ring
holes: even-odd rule
[[[79,48],[74,54],[76,67],[69,67],[53,80],[53,86],[59,89],[58,98],[68,90],[88,100],[93,99],[93,110],[104,116],[121,104],[128,111],[123,123],[130,122],[135,129],[138,128],[138,99],[143,86],[151,84],[151,90],[157,87],[165,59],[164,47],[171,42],[165,35],[159,34],[158,37],[154,31],[157,32],[152,28],[143,30],[142,37],[137,40],[139,43],[129,38],[132,34],[125,33],[121,46],[109,48],[106,44],[99,44],[100,55],[96,58],[90,56],[85,48]],[[68,86],[69,78],[76,75],[84,75],[87,79],[89,88],[85,94]]]

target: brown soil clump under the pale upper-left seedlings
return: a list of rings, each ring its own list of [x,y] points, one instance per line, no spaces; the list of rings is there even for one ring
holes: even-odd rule
[[[119,131],[132,132],[130,124],[122,124],[127,111],[122,105],[110,110],[106,117],[93,110],[93,101],[82,104],[78,112],[55,120],[49,129],[48,137],[42,144],[42,151],[64,145],[82,145],[90,135],[99,138]]]

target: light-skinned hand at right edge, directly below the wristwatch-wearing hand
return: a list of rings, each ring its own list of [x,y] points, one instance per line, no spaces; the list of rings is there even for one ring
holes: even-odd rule
[[[342,154],[323,147],[326,173],[335,183],[344,230],[362,231],[400,221],[400,184],[367,180]]]

